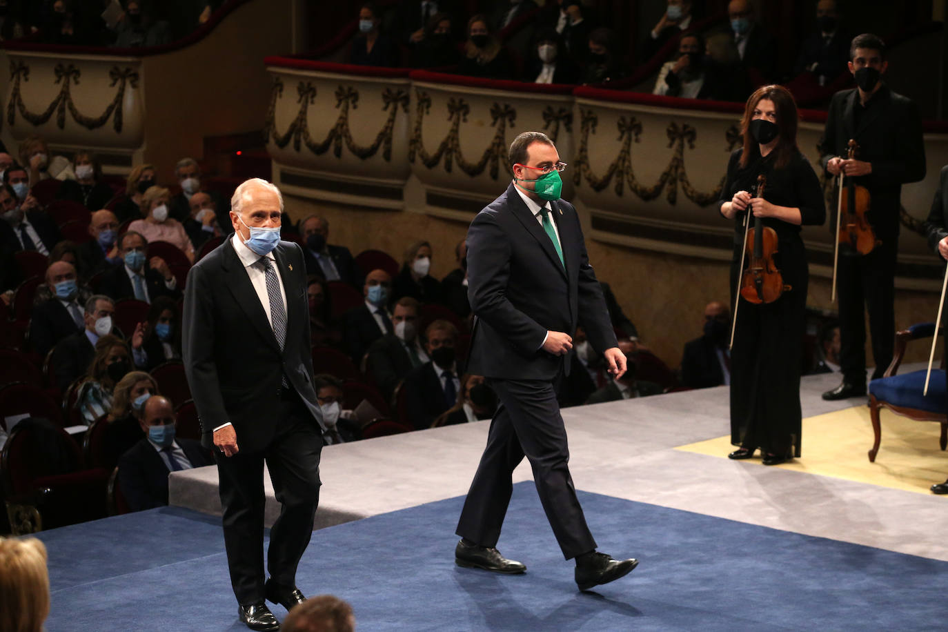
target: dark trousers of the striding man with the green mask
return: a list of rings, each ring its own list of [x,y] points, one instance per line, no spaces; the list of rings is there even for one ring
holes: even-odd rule
[[[570,559],[593,551],[595,540],[570,476],[566,428],[554,384],[492,379],[490,386],[501,405],[490,423],[487,446],[467,492],[456,533],[483,547],[497,545],[513,492],[512,475],[526,456],[563,556]]]

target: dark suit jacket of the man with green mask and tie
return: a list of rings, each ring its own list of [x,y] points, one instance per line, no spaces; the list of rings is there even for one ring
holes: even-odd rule
[[[575,208],[564,200],[551,206],[565,270],[513,184],[467,230],[467,296],[475,315],[469,373],[519,380],[568,373],[570,356],[564,364],[541,347],[547,331],[573,335],[577,324],[595,351],[617,344]]]

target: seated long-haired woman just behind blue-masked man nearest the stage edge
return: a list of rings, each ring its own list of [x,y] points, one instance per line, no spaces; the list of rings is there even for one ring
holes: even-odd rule
[[[142,407],[152,395],[160,395],[155,378],[143,370],[132,370],[112,390],[112,407],[102,433],[102,463],[115,467],[118,459],[145,438],[141,430]]]

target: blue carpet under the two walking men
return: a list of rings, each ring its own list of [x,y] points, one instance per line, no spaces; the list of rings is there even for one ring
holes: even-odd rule
[[[349,601],[359,630],[943,629],[948,563],[579,497],[599,549],[641,562],[594,594],[576,590],[532,482],[515,486],[499,545],[525,575],[454,565],[459,497],[314,533],[299,586]],[[168,508],[40,537],[50,632],[246,630],[217,519]]]

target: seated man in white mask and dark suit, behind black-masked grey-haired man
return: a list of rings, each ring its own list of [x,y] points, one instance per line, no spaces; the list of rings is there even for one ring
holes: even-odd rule
[[[429,360],[418,335],[417,300],[399,298],[392,310],[392,325],[392,334],[383,335],[369,346],[368,369],[386,399],[392,399],[395,387],[410,370]]]

